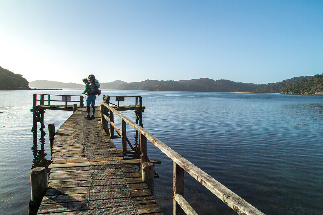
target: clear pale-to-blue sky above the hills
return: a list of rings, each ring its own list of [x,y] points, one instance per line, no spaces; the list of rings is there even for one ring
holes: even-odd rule
[[[0,66],[28,81],[323,73],[323,1],[0,0]]]

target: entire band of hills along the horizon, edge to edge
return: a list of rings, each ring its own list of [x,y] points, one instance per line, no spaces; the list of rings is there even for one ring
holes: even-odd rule
[[[50,90],[81,89],[82,84],[58,81],[36,80],[28,84],[26,78],[0,67],[0,90],[29,90],[30,87],[52,88]],[[100,89],[151,90],[151,91],[193,91],[193,92],[246,92],[282,93],[300,95],[323,95],[323,74],[299,76],[276,83],[253,84],[230,80],[198,78],[179,81],[145,80],[141,82],[112,81],[100,83]]]

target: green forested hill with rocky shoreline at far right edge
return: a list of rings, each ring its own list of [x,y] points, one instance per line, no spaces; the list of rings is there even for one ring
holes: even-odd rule
[[[323,74],[312,76],[308,80],[304,78],[295,84],[289,84],[282,90],[282,93],[323,95]]]

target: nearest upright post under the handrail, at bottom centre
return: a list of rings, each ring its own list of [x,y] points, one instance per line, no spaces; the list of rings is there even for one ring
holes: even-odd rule
[[[174,199],[173,199],[173,214],[182,215],[184,214],[183,209],[175,200],[175,193],[183,196],[184,194],[184,169],[178,166],[174,162],[174,174],[173,174],[173,188],[174,188]]]

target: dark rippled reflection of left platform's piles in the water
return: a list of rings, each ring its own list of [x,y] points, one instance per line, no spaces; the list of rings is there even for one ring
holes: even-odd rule
[[[45,153],[45,132],[41,132],[41,137],[39,138],[40,140],[40,149],[38,149],[38,141],[37,139],[34,138],[34,144],[31,147],[33,150],[33,163],[31,165],[31,168],[36,168],[36,167],[48,167],[50,164],[50,160],[46,159],[46,153]]]

